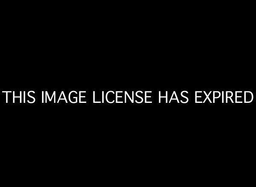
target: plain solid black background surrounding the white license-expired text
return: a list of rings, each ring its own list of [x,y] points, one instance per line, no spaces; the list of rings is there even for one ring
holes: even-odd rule
[[[196,105],[193,96],[255,94],[247,7],[42,7],[3,13],[1,91],[152,90],[154,104],[2,102],[5,176],[131,184],[250,178],[255,101]],[[187,105],[157,104],[157,91],[183,90]]]

